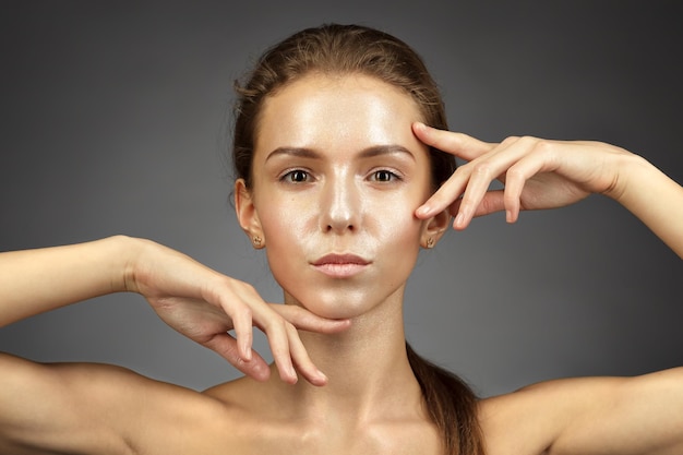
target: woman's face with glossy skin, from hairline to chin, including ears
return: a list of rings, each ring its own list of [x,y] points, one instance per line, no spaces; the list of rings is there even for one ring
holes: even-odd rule
[[[309,75],[267,98],[237,209],[287,303],[354,318],[400,302],[420,243],[447,223],[414,215],[431,193],[419,120],[409,95],[364,75]]]

